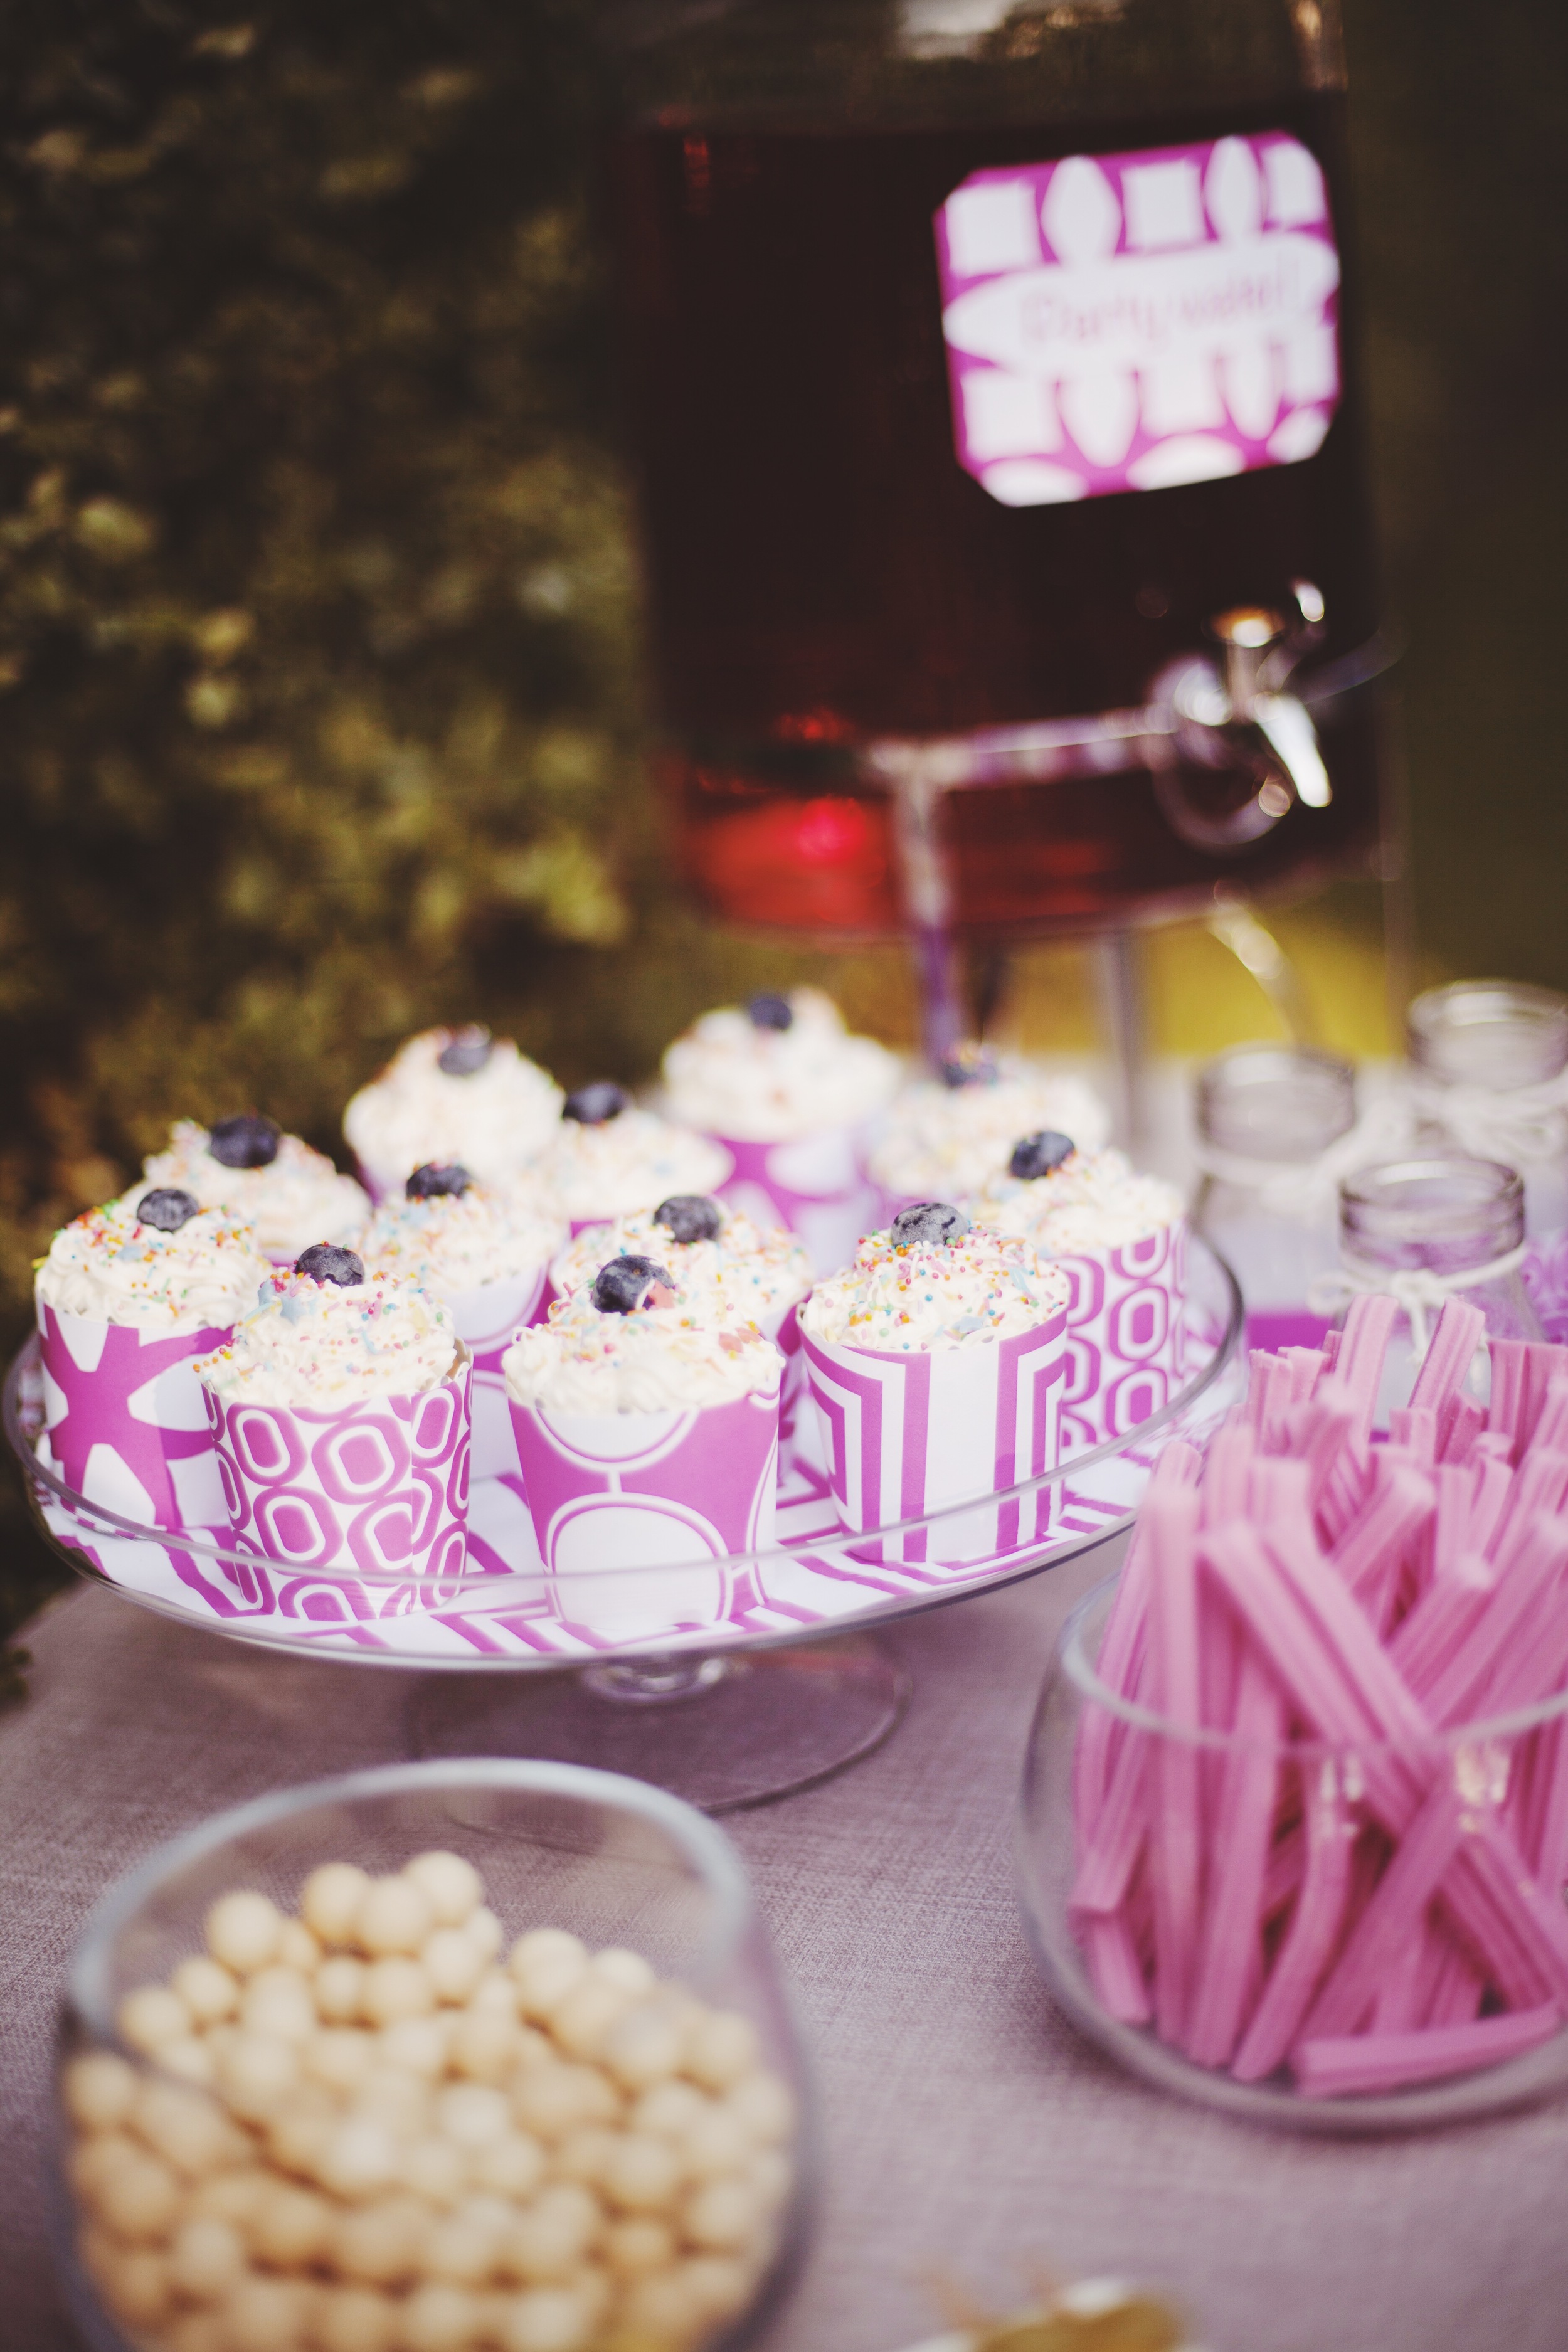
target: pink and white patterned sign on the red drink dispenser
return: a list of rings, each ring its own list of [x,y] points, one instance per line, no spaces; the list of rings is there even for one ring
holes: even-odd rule
[[[959,463],[1001,506],[1293,466],[1333,423],[1340,256],[1286,132],[973,172],[936,252]]]

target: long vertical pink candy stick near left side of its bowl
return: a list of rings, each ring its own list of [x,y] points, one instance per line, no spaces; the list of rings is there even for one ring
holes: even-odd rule
[[[1199,1818],[1199,1748],[1182,1726],[1201,1724],[1197,1522],[1199,1498],[1150,1496],[1150,1665],[1154,1705],[1171,1726],[1154,1752],[1154,2018],[1164,2042],[1182,2042],[1201,1917],[1204,1837]]]

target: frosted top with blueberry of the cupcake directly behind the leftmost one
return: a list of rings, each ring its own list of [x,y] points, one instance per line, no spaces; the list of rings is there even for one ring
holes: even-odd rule
[[[202,1209],[254,1225],[277,1265],[292,1265],[310,1242],[353,1242],[369,1216],[353,1176],[254,1110],[216,1127],[176,1120],[167,1152],[143,1162],[143,1174],[153,1185],[190,1192]]]

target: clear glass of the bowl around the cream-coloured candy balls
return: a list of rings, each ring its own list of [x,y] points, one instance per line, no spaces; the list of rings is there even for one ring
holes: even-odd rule
[[[132,2063],[143,2089],[172,2082],[127,2046],[115,2020],[127,1992],[167,1983],[181,1959],[202,1950],[202,1917],[216,1896],[235,1886],[261,1889],[292,1912],[317,1863],[355,1860],[381,1875],[430,1849],[461,1853],[480,1870],[508,1947],[529,1926],[569,1929],[590,1947],[625,1945],[642,1952],[658,1978],[752,2023],[759,2065],[792,2093],[795,2129],[785,2140],[792,2187],[778,2206],[773,2253],[748,2307],[693,2336],[691,2352],[750,2345],[783,2296],[806,2237],[816,2161],[804,2065],[736,1849],[691,1806],[639,1780],[571,1764],[395,1764],[216,1813],[160,1846],[92,1912],[66,1976],[61,2079],[82,2051],[108,2049]],[[122,2328],[92,2284],[78,2244],[82,2206],[68,2187],[71,2145],[73,2124],[61,2098],[54,2239],[75,2324],[94,2352],[162,2352],[165,2345],[183,2352],[179,2328]],[[503,2291],[491,2284],[491,2293]],[[219,2328],[195,2324],[190,2314],[202,2305],[181,2310],[188,2340],[212,2352],[306,2352],[315,2345],[308,2333],[275,2345],[230,2345]],[[599,2340],[609,2338],[592,2338]],[[404,2352],[397,2336],[386,2352],[393,2343]],[[470,2343],[477,2352],[505,2345],[505,2336],[487,2333],[482,2312],[463,2352]]]

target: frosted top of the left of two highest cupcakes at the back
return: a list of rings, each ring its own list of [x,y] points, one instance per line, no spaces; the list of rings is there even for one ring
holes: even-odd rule
[[[487,1028],[421,1030],[343,1112],[371,1195],[402,1192],[416,1167],[458,1162],[477,1183],[517,1176],[555,1134],[562,1089]]]

